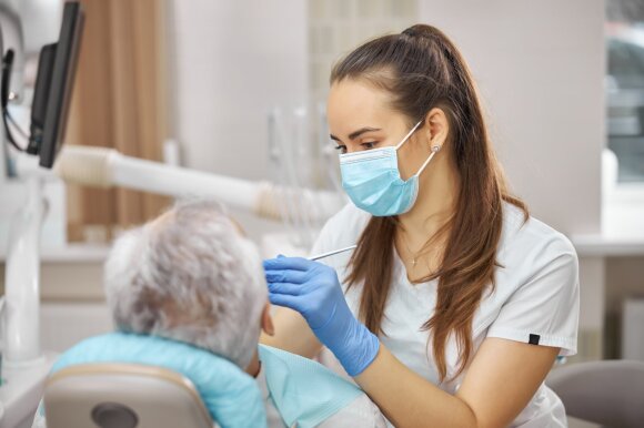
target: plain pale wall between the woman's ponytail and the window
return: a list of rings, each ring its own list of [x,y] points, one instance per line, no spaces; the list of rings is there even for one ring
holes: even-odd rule
[[[532,214],[566,234],[600,233],[604,2],[420,0],[420,20],[467,59],[512,188]],[[601,344],[604,262],[580,265],[581,336]]]

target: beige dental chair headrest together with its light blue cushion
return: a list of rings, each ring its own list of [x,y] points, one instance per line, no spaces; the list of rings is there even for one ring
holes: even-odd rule
[[[266,427],[255,380],[233,363],[121,332],[87,338],[59,357],[38,417],[48,428]]]

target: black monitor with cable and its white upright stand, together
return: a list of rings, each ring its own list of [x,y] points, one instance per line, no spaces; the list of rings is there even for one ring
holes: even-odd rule
[[[71,88],[78,60],[83,23],[83,10],[78,1],[67,1],[62,7],[60,33],[54,43],[42,47],[39,54],[38,74],[30,104],[29,132],[23,131],[23,141],[13,139],[9,122],[20,130],[10,112],[11,74],[14,50],[0,43],[2,73],[0,79],[0,106],[4,132],[0,144],[4,150],[4,137],[18,152],[16,171],[10,179],[26,186],[24,204],[13,221],[7,252],[3,333],[6,363],[2,367],[3,383],[0,386],[0,428],[29,428],[42,396],[44,379],[54,360],[53,354],[40,349],[40,231],[47,211],[43,184],[52,176],[56,155],[64,141],[64,124]],[[19,20],[19,19],[18,19]],[[22,44],[18,43],[20,51]],[[16,71],[21,72],[21,63]],[[18,85],[20,86],[20,84]],[[38,156],[36,165],[29,160]],[[21,167],[24,161],[27,167]]]

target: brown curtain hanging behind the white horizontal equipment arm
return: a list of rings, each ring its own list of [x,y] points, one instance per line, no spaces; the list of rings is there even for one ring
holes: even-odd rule
[[[85,22],[66,144],[161,161],[168,135],[165,1],[81,0]],[[104,242],[159,214],[168,198],[68,185],[70,241]]]

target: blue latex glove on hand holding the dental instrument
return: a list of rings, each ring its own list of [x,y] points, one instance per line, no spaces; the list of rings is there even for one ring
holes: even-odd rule
[[[349,309],[332,267],[281,256],[264,261],[264,271],[271,303],[302,314],[350,376],[360,375],[375,359],[380,340]]]

